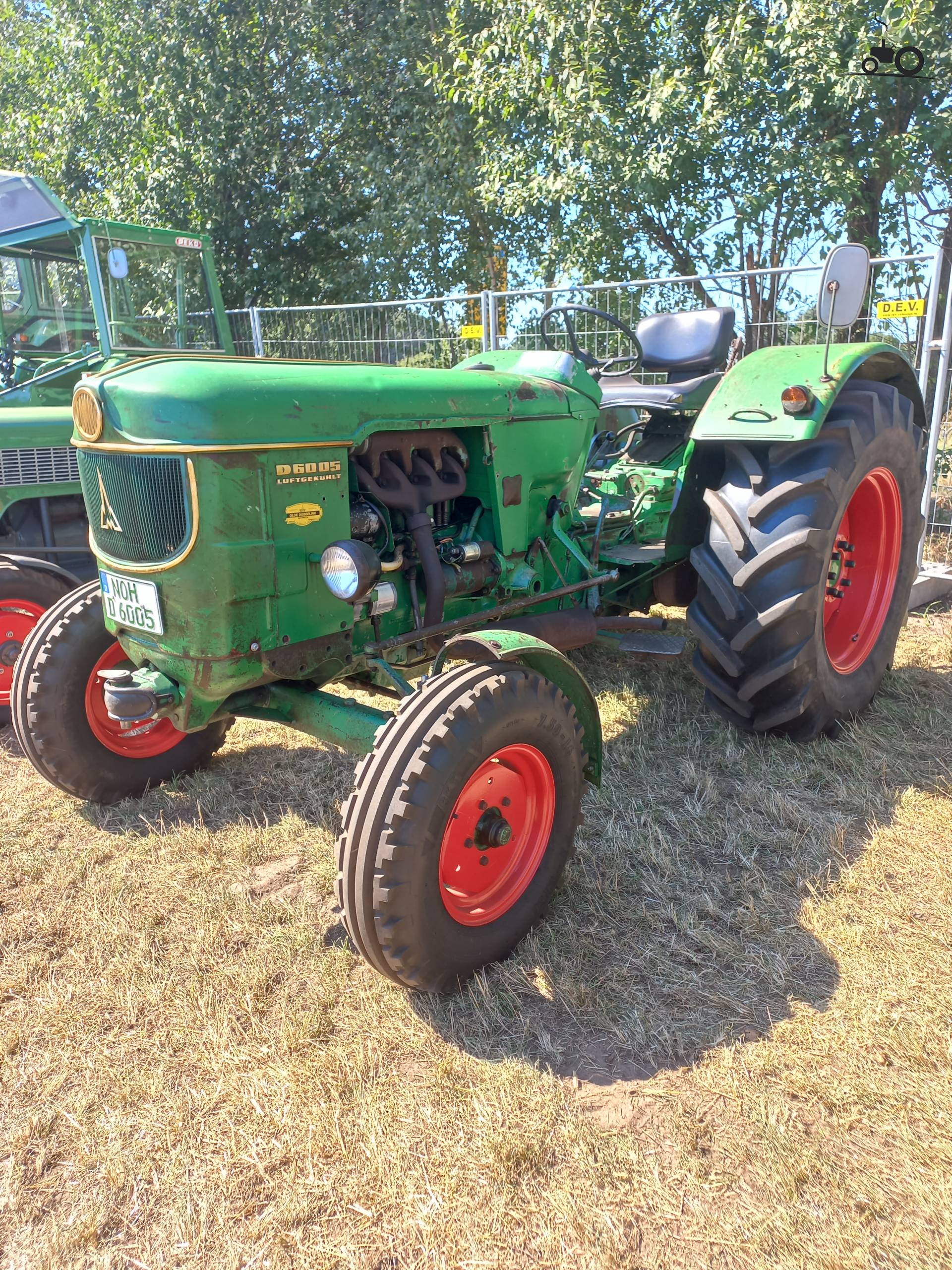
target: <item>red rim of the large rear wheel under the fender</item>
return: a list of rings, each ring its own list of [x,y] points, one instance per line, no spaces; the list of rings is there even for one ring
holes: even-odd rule
[[[826,569],[823,635],[834,671],[850,674],[878,639],[896,589],[902,499],[886,467],[863,476],[849,500]]]

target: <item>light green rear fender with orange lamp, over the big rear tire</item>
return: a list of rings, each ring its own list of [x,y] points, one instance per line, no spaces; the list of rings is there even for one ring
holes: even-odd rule
[[[852,377],[891,384],[927,428],[925,405],[909,362],[890,344],[830,345],[829,378],[823,378],[823,344],[784,344],[749,353],[724,376],[697,417],[694,441],[810,441]],[[786,414],[781,392],[802,384],[814,395],[809,413]]]

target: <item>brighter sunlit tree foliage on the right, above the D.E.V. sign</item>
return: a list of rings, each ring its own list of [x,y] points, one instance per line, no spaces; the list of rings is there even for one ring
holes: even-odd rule
[[[878,41],[856,0],[453,0],[434,74],[479,121],[484,194],[548,207],[562,267],[778,265],[844,229],[876,249],[948,180],[949,6],[883,17],[930,80],[853,74]]]

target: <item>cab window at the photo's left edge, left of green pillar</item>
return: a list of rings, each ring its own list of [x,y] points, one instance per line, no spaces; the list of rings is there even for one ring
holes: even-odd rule
[[[75,248],[0,250],[0,328],[14,353],[62,357],[99,344],[89,283]]]

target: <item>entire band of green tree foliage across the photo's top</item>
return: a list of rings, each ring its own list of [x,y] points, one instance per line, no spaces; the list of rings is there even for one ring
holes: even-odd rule
[[[905,246],[949,0],[880,14],[928,80],[858,72],[859,0],[0,0],[0,165],[207,229],[231,305],[477,290],[495,244],[512,286]]]

